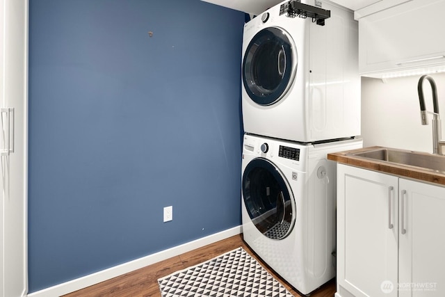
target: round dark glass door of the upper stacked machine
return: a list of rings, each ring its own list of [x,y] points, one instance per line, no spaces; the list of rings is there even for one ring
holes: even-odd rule
[[[268,27],[254,35],[243,58],[243,85],[250,99],[270,105],[286,94],[297,69],[293,51],[291,36],[283,29]]]

